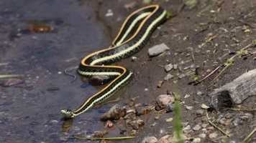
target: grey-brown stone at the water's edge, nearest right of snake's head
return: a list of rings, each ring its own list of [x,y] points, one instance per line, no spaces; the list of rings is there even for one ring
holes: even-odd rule
[[[116,104],[114,107],[111,107],[108,112],[101,116],[101,121],[119,119],[120,117],[124,117],[126,113],[126,109]]]

